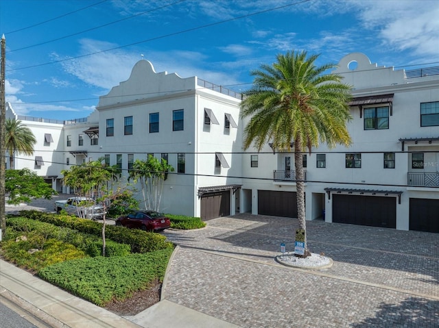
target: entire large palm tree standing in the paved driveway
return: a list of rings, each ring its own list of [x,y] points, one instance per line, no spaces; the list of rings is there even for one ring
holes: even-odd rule
[[[244,149],[252,144],[260,151],[270,141],[278,151],[291,151],[294,142],[296,190],[299,229],[305,231],[305,184],[302,153],[319,142],[329,147],[351,144],[346,122],[351,120],[348,101],[351,87],[342,84],[342,77],[323,74],[334,64],[316,66],[318,55],[292,51],[277,55],[271,66],[261,65],[251,72],[253,86],[244,93],[241,117],[249,117],[244,128]]]

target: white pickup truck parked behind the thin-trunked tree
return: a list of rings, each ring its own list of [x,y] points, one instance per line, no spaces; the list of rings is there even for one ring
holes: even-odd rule
[[[59,214],[66,210],[69,214],[96,220],[104,217],[104,207],[94,204],[93,199],[86,197],[70,197],[66,200],[55,201],[55,210]]]

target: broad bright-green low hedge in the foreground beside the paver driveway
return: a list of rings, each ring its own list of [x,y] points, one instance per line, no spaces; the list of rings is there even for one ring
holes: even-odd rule
[[[47,266],[38,276],[72,294],[105,306],[123,301],[147,288],[155,279],[163,281],[172,249],[123,257],[87,257]]]

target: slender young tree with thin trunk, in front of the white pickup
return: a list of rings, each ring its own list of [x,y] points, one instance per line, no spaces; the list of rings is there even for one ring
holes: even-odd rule
[[[81,205],[102,205],[104,207],[104,223],[102,224],[102,255],[105,256],[106,238],[106,214],[111,203],[117,199],[124,199],[132,196],[129,186],[114,186],[109,184],[115,178],[115,167],[106,166],[102,159],[81,164],[80,166],[71,166],[69,170],[61,171],[64,175],[64,184],[75,190],[75,194],[80,197],[88,197]]]

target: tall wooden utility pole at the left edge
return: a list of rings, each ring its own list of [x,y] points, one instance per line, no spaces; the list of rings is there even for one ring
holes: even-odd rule
[[[6,102],[5,102],[5,62],[6,62],[6,39],[1,36],[1,72],[0,72],[0,240],[6,234],[6,207],[5,207],[5,171],[6,171],[6,151],[5,151],[5,121],[6,121]]]

